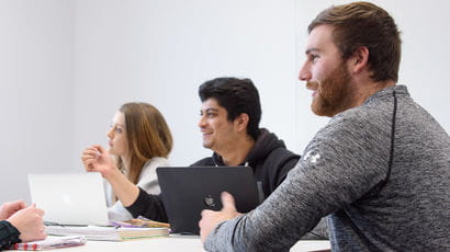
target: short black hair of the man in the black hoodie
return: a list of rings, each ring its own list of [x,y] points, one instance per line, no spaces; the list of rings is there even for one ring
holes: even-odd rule
[[[202,102],[215,99],[218,105],[226,110],[230,122],[243,113],[247,114],[249,117],[247,134],[254,140],[258,138],[261,104],[258,90],[250,79],[216,78],[209,80],[200,85],[199,96]]]

